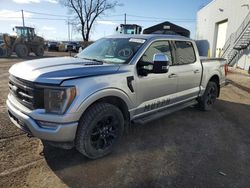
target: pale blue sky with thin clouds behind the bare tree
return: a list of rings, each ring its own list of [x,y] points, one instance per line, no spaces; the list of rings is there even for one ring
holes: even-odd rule
[[[171,21],[191,31],[195,37],[196,13],[211,0],[118,0],[123,6],[106,12],[94,25],[91,39],[115,33],[115,27],[123,23],[124,13],[127,23],[139,24],[143,28],[163,21]],[[21,10],[24,10],[25,25],[36,28],[39,35],[46,39],[67,40],[66,23],[69,11],[58,0],[0,0],[0,33],[12,33],[15,25],[22,25]],[[32,13],[33,12],[33,13]],[[60,16],[41,15],[36,13]],[[49,18],[44,19],[44,18]],[[62,19],[62,20],[52,20]],[[72,39],[80,40],[81,35],[74,30]]]

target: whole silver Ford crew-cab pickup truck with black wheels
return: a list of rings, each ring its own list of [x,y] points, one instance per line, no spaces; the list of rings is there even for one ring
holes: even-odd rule
[[[13,65],[8,114],[29,136],[109,154],[125,128],[198,105],[212,109],[225,84],[225,60],[200,58],[195,41],[171,35],[102,38],[75,57]]]

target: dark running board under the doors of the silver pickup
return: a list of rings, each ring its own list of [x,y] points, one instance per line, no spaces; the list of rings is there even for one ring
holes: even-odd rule
[[[197,103],[198,103],[197,100],[188,101],[188,102],[185,102],[182,104],[178,104],[178,105],[169,107],[166,110],[158,111],[156,113],[153,113],[152,115],[148,115],[148,116],[144,116],[142,118],[134,119],[134,120],[132,120],[132,122],[135,124],[140,124],[140,125],[146,124],[146,123],[149,123],[149,122],[154,121],[156,119],[159,119],[163,116],[171,114],[173,112],[176,112],[176,111],[182,110],[184,108],[196,105]]]

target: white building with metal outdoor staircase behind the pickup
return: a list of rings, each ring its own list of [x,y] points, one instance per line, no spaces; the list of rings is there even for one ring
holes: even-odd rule
[[[224,57],[230,65],[250,66],[250,0],[213,0],[197,13],[197,40],[203,50]]]

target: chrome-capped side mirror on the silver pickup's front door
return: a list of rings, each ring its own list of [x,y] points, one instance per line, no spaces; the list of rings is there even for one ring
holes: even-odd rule
[[[169,59],[165,54],[154,54],[154,64],[152,73],[163,74],[169,69]]]

